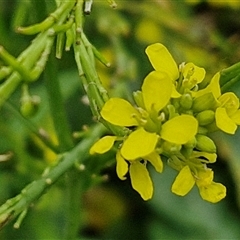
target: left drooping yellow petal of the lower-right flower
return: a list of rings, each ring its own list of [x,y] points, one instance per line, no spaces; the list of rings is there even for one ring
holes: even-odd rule
[[[193,188],[194,184],[195,180],[191,170],[189,166],[185,166],[177,175],[171,190],[179,196],[185,196]]]

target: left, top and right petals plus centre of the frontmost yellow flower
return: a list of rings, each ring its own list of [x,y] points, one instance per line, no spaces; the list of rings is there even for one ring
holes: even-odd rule
[[[168,142],[184,144],[196,135],[197,120],[190,115],[180,115],[164,123],[159,115],[171,98],[172,86],[164,72],[151,72],[143,82],[141,94],[138,94],[143,106],[135,108],[124,99],[111,98],[103,106],[101,115],[112,124],[143,127]]]

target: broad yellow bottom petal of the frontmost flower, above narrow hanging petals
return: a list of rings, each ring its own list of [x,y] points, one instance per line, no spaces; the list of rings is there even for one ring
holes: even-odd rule
[[[145,157],[153,152],[157,141],[158,135],[156,133],[149,133],[143,128],[139,128],[124,141],[121,154],[127,160]]]

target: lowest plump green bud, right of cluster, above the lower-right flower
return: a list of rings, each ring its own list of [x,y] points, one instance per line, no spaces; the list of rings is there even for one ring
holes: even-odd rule
[[[196,149],[203,152],[216,153],[216,145],[211,138],[202,134],[198,134],[196,135],[196,140]]]

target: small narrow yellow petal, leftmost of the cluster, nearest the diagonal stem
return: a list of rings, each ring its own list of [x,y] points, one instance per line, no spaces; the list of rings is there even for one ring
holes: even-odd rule
[[[105,137],[99,139],[90,148],[89,153],[90,154],[94,154],[94,153],[103,154],[103,153],[109,151],[112,148],[116,138],[117,138],[116,136],[105,136]]]

